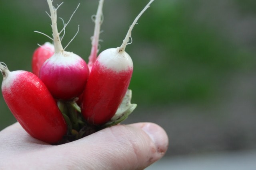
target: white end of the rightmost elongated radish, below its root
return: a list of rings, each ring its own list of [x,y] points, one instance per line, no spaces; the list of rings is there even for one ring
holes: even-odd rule
[[[100,53],[97,61],[104,67],[115,70],[117,72],[133,68],[133,63],[130,55],[125,51],[118,52],[118,48],[106,49]]]

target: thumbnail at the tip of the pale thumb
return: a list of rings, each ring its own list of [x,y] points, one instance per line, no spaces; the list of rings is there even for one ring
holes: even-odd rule
[[[169,141],[168,136],[162,127],[154,123],[145,123],[142,126],[142,130],[151,138],[152,142],[156,145],[158,152],[166,152]]]

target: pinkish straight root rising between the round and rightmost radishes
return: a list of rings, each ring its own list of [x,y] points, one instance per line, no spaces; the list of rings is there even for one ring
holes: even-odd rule
[[[88,68],[91,71],[92,66],[94,62],[96,61],[97,58],[97,53],[98,53],[98,45],[99,45],[99,37],[100,37],[100,25],[102,24],[102,7],[103,7],[103,2],[104,0],[99,1],[97,13],[95,16],[95,27],[94,27],[94,34],[92,37],[92,49],[91,53],[89,56],[89,61],[88,61]]]

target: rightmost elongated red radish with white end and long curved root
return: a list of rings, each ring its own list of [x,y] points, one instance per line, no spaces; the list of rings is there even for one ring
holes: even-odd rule
[[[81,106],[82,114],[89,123],[106,123],[114,116],[122,102],[133,71],[132,59],[124,50],[134,25],[153,1],[150,0],[136,17],[122,45],[102,51],[92,66]]]

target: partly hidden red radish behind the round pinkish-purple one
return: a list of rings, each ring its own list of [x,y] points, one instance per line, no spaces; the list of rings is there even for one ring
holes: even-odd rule
[[[44,64],[44,62],[52,57],[54,54],[54,45],[49,42],[44,43],[44,45],[38,47],[32,57],[32,73],[39,76],[39,70]]]

